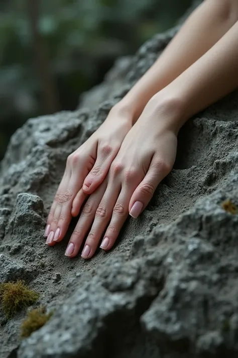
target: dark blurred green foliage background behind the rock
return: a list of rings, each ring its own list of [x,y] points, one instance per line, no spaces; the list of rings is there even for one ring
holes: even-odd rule
[[[174,25],[191,0],[0,0],[0,160],[29,117],[74,110],[118,56]]]

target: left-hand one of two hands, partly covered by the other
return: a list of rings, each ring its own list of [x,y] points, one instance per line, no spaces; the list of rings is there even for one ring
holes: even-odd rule
[[[98,130],[68,157],[47,220],[47,244],[63,239],[72,216],[78,215],[87,194],[92,193],[105,178],[132,124],[129,110],[116,105]]]

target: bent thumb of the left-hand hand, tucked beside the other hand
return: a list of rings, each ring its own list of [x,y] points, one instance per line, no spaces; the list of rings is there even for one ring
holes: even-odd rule
[[[117,152],[118,150],[113,150],[109,145],[98,145],[95,165],[83,183],[83,191],[86,194],[91,194],[102,183]]]

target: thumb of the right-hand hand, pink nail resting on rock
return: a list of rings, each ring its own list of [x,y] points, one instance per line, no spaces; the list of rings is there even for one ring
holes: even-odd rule
[[[155,189],[162,179],[169,174],[171,168],[164,161],[152,158],[149,170],[134,191],[129,204],[129,213],[133,218],[138,218],[151,200]]]

